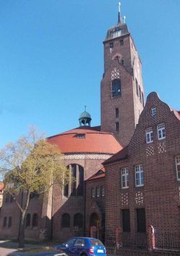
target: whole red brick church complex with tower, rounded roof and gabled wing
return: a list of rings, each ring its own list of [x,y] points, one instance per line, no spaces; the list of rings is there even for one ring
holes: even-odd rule
[[[91,127],[85,110],[78,128],[48,138],[64,154],[71,177],[63,190],[31,198],[27,239],[86,235],[114,246],[148,243],[149,230],[180,234],[180,112],[156,92],[145,103],[140,57],[120,12],[103,43],[101,125]],[[19,214],[6,196],[1,238],[18,237]]]

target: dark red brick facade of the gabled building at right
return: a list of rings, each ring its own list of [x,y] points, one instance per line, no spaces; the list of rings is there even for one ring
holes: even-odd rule
[[[156,107],[156,115],[153,116],[150,114],[152,107]],[[164,124],[166,131],[162,139],[158,138],[160,124]],[[148,128],[153,131],[150,143],[145,137]],[[119,152],[104,163],[107,234],[115,236],[117,226],[123,231],[122,211],[125,209],[130,211],[129,231],[140,234],[137,209],[142,208],[145,211],[145,231],[152,225],[159,234],[170,231],[179,234],[180,180],[177,180],[175,162],[175,157],[180,155],[179,134],[179,112],[161,102],[155,92],[149,94],[134,136],[125,149],[126,154]],[[138,186],[136,181],[135,166],[138,164],[143,167],[142,186]],[[125,167],[128,168],[129,182],[127,188],[122,188],[122,168]]]

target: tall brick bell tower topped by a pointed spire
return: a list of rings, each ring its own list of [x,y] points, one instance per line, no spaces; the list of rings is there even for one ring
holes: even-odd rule
[[[102,131],[122,146],[130,142],[144,107],[144,87],[138,50],[120,15],[104,40],[104,74],[101,83]]]

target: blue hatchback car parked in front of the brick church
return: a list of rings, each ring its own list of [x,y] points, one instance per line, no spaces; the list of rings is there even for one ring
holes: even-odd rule
[[[58,245],[57,250],[63,250],[69,256],[107,256],[104,244],[92,237],[72,237]]]

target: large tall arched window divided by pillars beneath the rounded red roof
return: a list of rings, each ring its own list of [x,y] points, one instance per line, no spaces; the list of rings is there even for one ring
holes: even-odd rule
[[[70,177],[68,184],[63,187],[63,195],[81,196],[84,195],[84,168],[78,164],[69,164]]]

